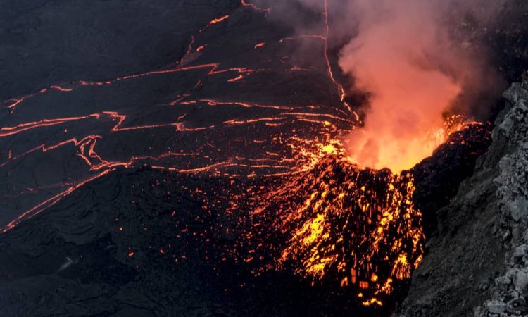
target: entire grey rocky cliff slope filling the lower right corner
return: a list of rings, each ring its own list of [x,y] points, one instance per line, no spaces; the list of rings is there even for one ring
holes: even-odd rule
[[[437,213],[399,316],[528,315],[528,80],[503,96],[491,147]]]

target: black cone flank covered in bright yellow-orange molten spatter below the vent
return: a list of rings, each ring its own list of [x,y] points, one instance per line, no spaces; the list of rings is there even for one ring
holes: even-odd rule
[[[277,268],[382,306],[422,259],[413,192],[408,173],[360,169],[327,156],[272,193],[256,217],[275,219],[268,235],[282,239],[274,247]]]

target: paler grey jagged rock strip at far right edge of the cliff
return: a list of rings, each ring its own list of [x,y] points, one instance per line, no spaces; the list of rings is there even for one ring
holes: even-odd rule
[[[495,131],[505,155],[494,182],[507,249],[505,273],[494,280],[490,299],[475,309],[475,317],[528,315],[528,82],[513,84],[504,97],[512,106]]]

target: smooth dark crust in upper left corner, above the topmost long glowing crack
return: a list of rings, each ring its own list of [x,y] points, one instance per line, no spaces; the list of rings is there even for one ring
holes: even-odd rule
[[[20,0],[0,4],[0,100],[65,80],[144,72],[185,54],[237,1]],[[184,17],[184,18],[182,18]]]

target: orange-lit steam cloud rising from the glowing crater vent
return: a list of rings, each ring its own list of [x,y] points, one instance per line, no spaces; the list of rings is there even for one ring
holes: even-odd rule
[[[317,10],[325,5],[324,0],[301,3]],[[339,66],[351,77],[350,89],[370,96],[365,126],[346,139],[353,161],[394,172],[411,168],[446,140],[446,113],[487,112],[503,87],[477,37],[502,5],[327,1],[332,30],[351,38],[340,51]]]

